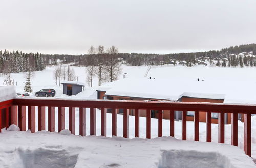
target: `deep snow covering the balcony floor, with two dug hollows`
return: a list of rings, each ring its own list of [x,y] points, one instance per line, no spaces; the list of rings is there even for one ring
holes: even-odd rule
[[[0,167],[255,167],[235,146],[172,137],[125,139],[4,131],[0,143]]]

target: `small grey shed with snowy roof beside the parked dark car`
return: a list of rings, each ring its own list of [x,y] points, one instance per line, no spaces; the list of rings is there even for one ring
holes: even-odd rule
[[[76,95],[84,90],[84,83],[78,81],[62,81],[63,94],[68,96]]]

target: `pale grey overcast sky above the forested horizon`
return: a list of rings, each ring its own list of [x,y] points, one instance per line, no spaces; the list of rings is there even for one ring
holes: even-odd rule
[[[1,0],[0,49],[177,53],[256,43],[255,0]]]

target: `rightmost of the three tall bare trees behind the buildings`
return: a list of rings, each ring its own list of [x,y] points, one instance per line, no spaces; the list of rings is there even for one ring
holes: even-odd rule
[[[105,71],[107,73],[108,81],[112,82],[118,79],[119,74],[121,73],[121,68],[118,61],[118,48],[116,46],[112,46],[107,50],[106,57],[106,67]]]

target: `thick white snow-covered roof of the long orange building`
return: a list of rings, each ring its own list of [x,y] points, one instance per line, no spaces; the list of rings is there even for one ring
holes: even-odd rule
[[[103,83],[99,91],[105,95],[136,97],[145,99],[178,100],[182,96],[208,99],[224,99],[225,93],[219,88],[208,88],[205,81],[175,82],[172,79],[126,78]]]

